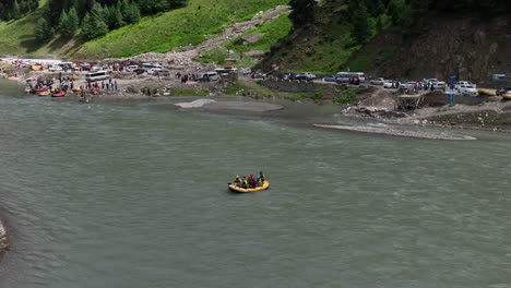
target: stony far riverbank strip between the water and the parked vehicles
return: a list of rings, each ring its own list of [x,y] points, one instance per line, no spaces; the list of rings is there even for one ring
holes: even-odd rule
[[[250,98],[264,99],[266,97],[285,98],[289,100],[311,99],[318,105],[338,105],[343,115],[347,117],[373,118],[385,124],[405,124],[405,125],[431,125],[439,128],[474,129],[486,131],[499,131],[511,133],[511,101],[500,99],[500,97],[485,97],[477,105],[456,104],[453,107],[448,105],[423,107],[402,111],[396,109],[396,100],[401,95],[395,89],[384,89],[378,86],[346,86],[328,83],[283,83],[276,81],[259,82],[243,76],[223,79],[215,82],[182,82],[178,76],[178,71],[173,71],[166,77],[155,75],[134,73],[114,72],[111,83],[115,83],[115,89],[111,88],[110,81],[99,82],[100,87],[97,93],[85,91],[86,101],[99,100],[142,100],[169,99],[168,96],[246,96]],[[74,79],[75,86],[84,87],[85,72],[73,72],[66,74]],[[15,76],[7,77],[11,81],[17,81],[26,85],[27,80],[38,77],[48,79],[56,75],[50,72],[29,71],[27,69],[17,69]],[[7,76],[7,75],[4,75]],[[273,84],[269,87],[269,83]],[[109,84],[109,85],[108,85]],[[110,88],[108,88],[110,87]],[[292,88],[292,92],[289,91]],[[66,98],[79,100],[81,93],[70,93]],[[432,95],[438,96],[438,95]],[[429,97],[429,95],[425,95]],[[470,96],[456,96],[470,97]],[[463,103],[463,101],[461,101]],[[201,108],[216,110],[247,110],[247,111],[270,111],[282,108],[275,107],[253,107],[253,104],[235,101],[226,105],[219,103],[211,105],[192,104],[191,107],[181,108]],[[185,105],[186,106],[186,105]],[[370,130],[371,131],[371,130]],[[370,132],[366,131],[366,132]]]

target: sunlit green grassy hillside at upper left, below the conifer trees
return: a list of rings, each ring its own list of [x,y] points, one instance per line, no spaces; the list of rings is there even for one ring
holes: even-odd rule
[[[0,55],[59,55],[81,59],[130,57],[144,52],[167,52],[176,47],[197,45],[226,25],[251,19],[259,11],[287,4],[288,0],[189,0],[188,5],[142,19],[82,45],[80,37],[63,39],[56,35],[48,43],[35,40],[34,27],[47,1],[25,17],[0,23]]]

